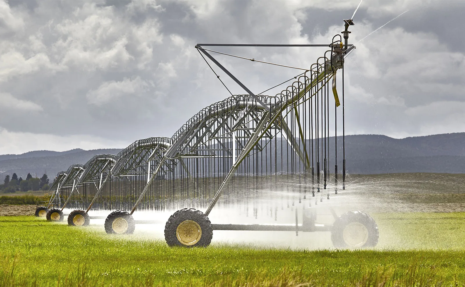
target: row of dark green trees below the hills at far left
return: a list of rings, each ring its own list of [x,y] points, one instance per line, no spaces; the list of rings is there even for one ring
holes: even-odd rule
[[[26,179],[18,178],[16,173],[13,175],[5,176],[3,184],[0,184],[0,192],[2,193],[15,193],[16,191],[29,191],[29,190],[48,190],[49,186],[48,176],[44,173],[42,177],[32,177],[30,173],[27,174]]]

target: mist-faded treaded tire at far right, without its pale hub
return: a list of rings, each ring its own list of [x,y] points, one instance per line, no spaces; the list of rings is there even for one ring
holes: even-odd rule
[[[352,246],[345,241],[344,230],[349,226],[349,224],[355,224],[358,227],[363,225],[365,231],[367,232],[366,241],[363,244]],[[378,244],[378,238],[378,225],[370,215],[362,211],[349,211],[339,216],[339,218],[334,222],[331,230],[331,241],[335,248],[374,247],[376,244]]]

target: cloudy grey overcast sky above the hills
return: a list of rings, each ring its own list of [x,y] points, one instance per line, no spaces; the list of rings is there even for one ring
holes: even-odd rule
[[[326,44],[359,0],[0,1],[0,154],[171,137],[228,92],[196,43]],[[346,60],[346,133],[465,131],[465,1],[364,0]],[[221,48],[218,48],[219,50]],[[234,48],[306,67],[318,48]],[[296,74],[217,56],[259,93]],[[219,69],[217,69],[219,70]],[[235,94],[245,93],[225,79]]]

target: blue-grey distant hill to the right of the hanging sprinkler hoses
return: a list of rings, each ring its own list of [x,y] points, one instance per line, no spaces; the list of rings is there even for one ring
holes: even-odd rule
[[[342,147],[342,137],[338,137],[338,162],[342,158],[339,147]],[[350,173],[465,173],[465,133],[401,139],[381,135],[346,136],[345,148],[346,168]],[[330,163],[333,170],[334,162],[330,160]]]

